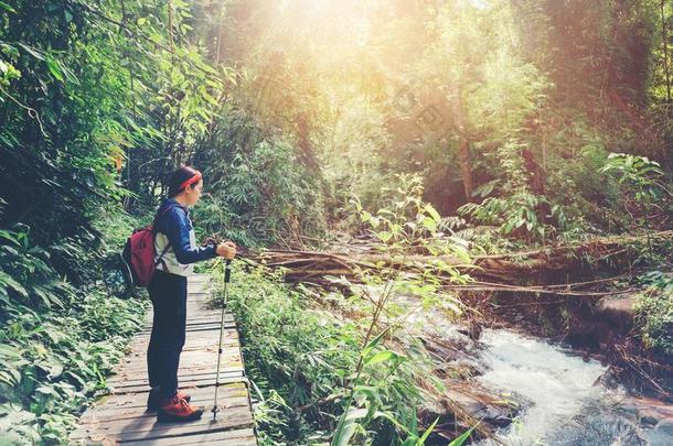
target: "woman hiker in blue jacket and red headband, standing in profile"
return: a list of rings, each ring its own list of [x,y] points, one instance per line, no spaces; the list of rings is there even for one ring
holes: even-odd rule
[[[184,346],[186,324],[186,282],[192,263],[216,255],[233,259],[236,246],[229,241],[196,247],[188,208],[201,198],[201,172],[182,166],[169,181],[169,197],[161,204],[154,221],[156,252],[163,252],[148,286],[154,319],[147,350],[150,390],[147,409],[157,411],[160,422],[199,420],[203,409],[189,403],[178,390],[178,366]],[[167,249],[168,246],[168,249]]]

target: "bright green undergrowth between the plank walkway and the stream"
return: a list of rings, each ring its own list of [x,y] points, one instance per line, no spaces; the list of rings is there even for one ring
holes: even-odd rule
[[[222,281],[221,263],[212,270]],[[228,308],[241,334],[246,371],[252,379],[255,420],[261,445],[328,444],[350,393],[355,388],[357,418],[349,444],[395,445],[414,436],[416,407],[428,400],[432,380],[426,353],[415,340],[404,355],[372,346],[356,379],[366,318],[344,320],[316,304],[317,291],[282,282],[281,272],[236,262]],[[217,301],[221,296],[216,297]],[[330,294],[339,305],[357,297]],[[362,325],[361,325],[362,324]],[[426,426],[427,427],[427,426]]]

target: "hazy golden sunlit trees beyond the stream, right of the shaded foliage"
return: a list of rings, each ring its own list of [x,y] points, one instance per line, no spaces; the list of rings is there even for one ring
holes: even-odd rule
[[[416,172],[442,213],[471,202],[474,222],[534,242],[631,229],[628,188],[597,174],[610,152],[670,163],[671,14],[654,0],[229,2],[211,51],[247,70],[236,100],[258,126],[317,163],[336,222],[352,194],[382,206],[393,174]]]

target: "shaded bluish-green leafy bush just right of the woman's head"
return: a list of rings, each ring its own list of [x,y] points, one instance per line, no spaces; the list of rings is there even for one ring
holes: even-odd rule
[[[195,160],[203,165],[207,189],[196,218],[209,233],[243,246],[296,242],[324,229],[318,181],[297,164],[295,148],[280,138],[265,138],[244,113],[217,119],[209,142]]]

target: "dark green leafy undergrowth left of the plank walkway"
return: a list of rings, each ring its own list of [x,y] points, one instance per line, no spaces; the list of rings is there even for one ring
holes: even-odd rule
[[[67,243],[72,261],[96,276],[99,258],[137,222],[117,209],[102,217],[97,251],[72,239],[36,247],[26,226],[0,231],[0,444],[67,444],[143,320],[143,303],[111,298],[97,282],[75,286],[52,264]]]

